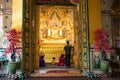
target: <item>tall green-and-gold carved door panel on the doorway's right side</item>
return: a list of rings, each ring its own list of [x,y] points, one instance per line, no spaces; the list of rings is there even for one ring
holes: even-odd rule
[[[89,70],[89,38],[88,38],[88,16],[87,16],[87,0],[80,0],[79,4],[79,51],[80,51],[80,69],[82,71]]]

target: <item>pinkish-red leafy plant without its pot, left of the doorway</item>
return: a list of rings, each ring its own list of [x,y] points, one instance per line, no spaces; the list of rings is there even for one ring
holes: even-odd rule
[[[16,29],[11,29],[6,32],[7,39],[9,41],[9,46],[5,48],[6,53],[11,53],[12,62],[16,61],[16,53],[20,55],[20,43],[21,43],[21,31],[17,31]]]

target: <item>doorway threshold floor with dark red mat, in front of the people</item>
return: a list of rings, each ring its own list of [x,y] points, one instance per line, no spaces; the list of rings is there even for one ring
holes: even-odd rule
[[[30,75],[30,77],[40,76],[81,76],[81,72],[75,69],[40,69]]]

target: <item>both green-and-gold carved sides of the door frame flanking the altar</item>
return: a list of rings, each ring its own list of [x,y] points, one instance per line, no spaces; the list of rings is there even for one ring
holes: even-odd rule
[[[89,28],[88,28],[88,0],[80,0],[78,5],[78,26],[81,28],[78,31],[77,39],[78,42],[78,69],[81,71],[89,71]],[[80,6],[81,5],[81,6]],[[33,32],[38,28],[33,26],[35,3],[34,0],[23,0],[23,27],[22,27],[22,72],[28,73],[33,72],[36,69],[36,58],[37,51],[37,34],[35,34],[35,42],[33,42]],[[84,16],[85,15],[85,16]],[[34,29],[34,30],[33,30]],[[84,36],[83,36],[84,35]],[[35,51],[34,51],[35,50]],[[35,63],[35,64],[34,64]],[[35,67],[36,66],[36,67]]]

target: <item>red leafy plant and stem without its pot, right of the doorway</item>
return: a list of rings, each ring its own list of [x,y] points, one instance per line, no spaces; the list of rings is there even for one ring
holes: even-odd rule
[[[105,52],[112,52],[108,32],[103,29],[95,31],[95,46],[96,51],[101,51],[103,60],[106,60]]]

